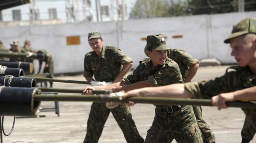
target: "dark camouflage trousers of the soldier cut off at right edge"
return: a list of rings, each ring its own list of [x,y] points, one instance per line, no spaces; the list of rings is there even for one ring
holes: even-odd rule
[[[245,112],[245,122],[241,131],[242,139],[251,141],[256,133],[256,109],[242,109]]]

